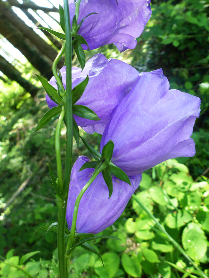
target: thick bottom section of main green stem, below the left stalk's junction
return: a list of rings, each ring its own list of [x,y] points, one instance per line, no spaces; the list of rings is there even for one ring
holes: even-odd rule
[[[67,200],[59,203],[57,225],[57,247],[59,259],[60,278],[68,278],[67,259],[65,258],[65,215]]]

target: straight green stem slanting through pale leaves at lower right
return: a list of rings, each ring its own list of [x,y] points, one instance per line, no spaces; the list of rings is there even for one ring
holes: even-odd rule
[[[202,272],[202,270],[195,264],[195,262],[193,262],[193,260],[186,254],[186,252],[183,250],[183,248],[181,248],[181,246],[176,242],[176,240],[174,240],[164,229],[164,227],[159,223],[159,221],[154,217],[154,215],[150,212],[150,210],[145,206],[145,204],[139,199],[137,198],[136,195],[132,195],[132,198],[140,205],[140,207],[142,207],[142,209],[149,215],[150,218],[152,218],[152,220],[154,220],[154,222],[156,223],[158,229],[163,232],[167,238],[172,242],[172,244],[179,250],[179,252],[181,252],[181,254],[184,256],[184,258],[186,258],[199,272],[200,272],[200,276],[204,277],[204,278],[208,278],[208,276],[205,275],[205,273]]]

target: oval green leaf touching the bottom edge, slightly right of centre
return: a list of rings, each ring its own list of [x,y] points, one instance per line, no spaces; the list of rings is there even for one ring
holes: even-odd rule
[[[123,253],[121,257],[123,268],[128,275],[132,277],[141,277],[142,267],[137,257],[130,257],[128,254]]]

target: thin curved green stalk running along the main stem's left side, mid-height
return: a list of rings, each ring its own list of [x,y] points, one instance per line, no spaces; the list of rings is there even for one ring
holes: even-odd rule
[[[65,107],[62,106],[61,114],[59,116],[59,120],[56,126],[55,131],[55,152],[56,152],[56,160],[57,160],[57,178],[58,178],[58,187],[61,192],[63,192],[63,182],[62,182],[62,161],[61,161],[61,153],[60,153],[60,132],[62,127],[62,121],[65,116]]]

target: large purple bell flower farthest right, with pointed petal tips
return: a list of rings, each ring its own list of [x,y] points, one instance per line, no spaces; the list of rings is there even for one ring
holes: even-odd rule
[[[170,158],[192,157],[195,143],[190,136],[199,114],[200,99],[169,90],[162,69],[140,73],[106,126],[100,149],[112,140],[111,161],[127,175],[138,175]]]

